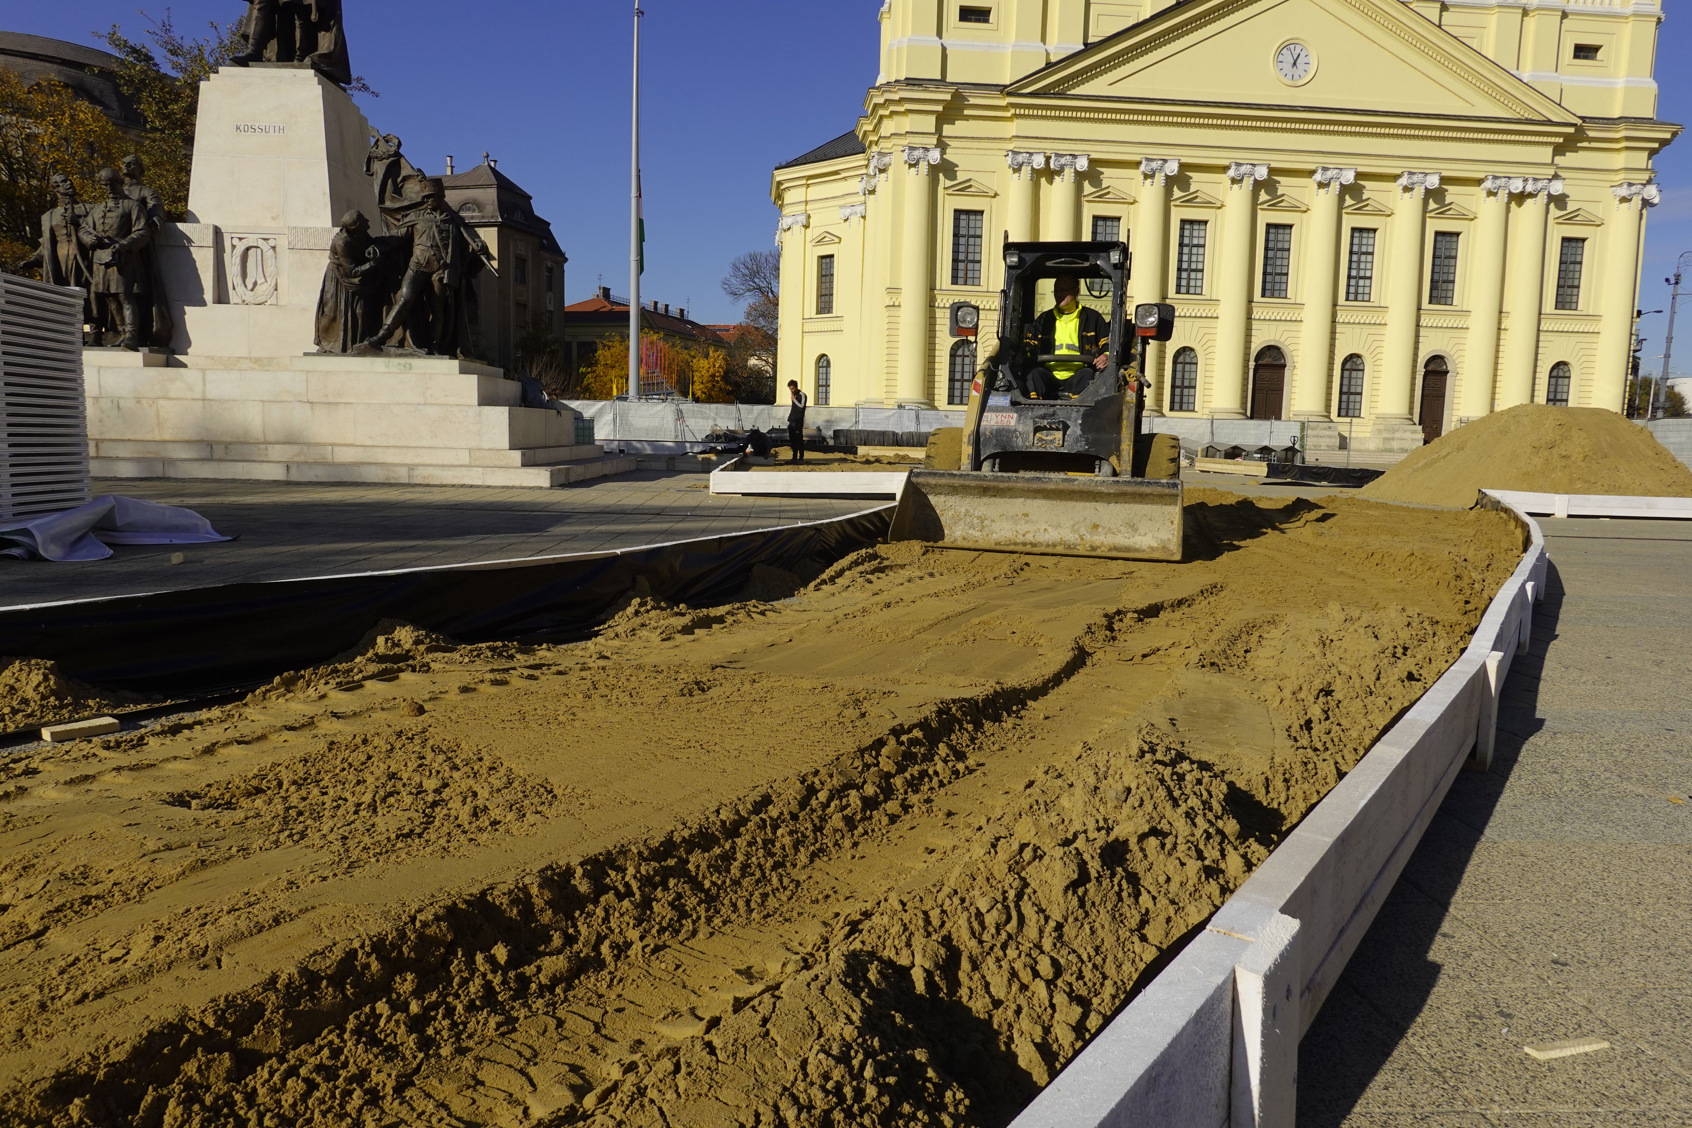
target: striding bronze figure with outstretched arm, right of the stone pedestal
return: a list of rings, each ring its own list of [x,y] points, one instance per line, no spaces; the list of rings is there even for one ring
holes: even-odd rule
[[[404,328],[411,345],[426,353],[469,355],[465,291],[484,262],[492,269],[492,252],[447,206],[447,189],[438,176],[423,181],[421,206],[389,216],[389,223],[396,222],[411,237],[411,260],[387,320],[364,345],[381,348]]]

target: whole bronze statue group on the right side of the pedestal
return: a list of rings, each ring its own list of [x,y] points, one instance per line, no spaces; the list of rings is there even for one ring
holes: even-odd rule
[[[364,171],[389,233],[372,235],[360,211],[342,216],[318,294],[318,352],[470,359],[475,277],[496,274],[492,252],[447,206],[440,178],[413,167],[393,134],[372,135]]]

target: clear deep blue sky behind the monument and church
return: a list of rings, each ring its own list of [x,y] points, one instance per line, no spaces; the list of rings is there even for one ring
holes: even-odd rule
[[[8,7],[8,30],[93,42],[117,22],[134,36],[151,0],[74,0]],[[240,0],[174,0],[178,27],[233,22]],[[569,266],[569,298],[604,276],[628,291],[629,5],[621,0],[347,0],[355,73],[381,98],[360,98],[377,129],[438,172],[489,151],[535,196]],[[770,169],[853,127],[875,81],[880,0],[645,0],[643,296],[685,304],[707,321],[736,320],[717,289],[729,259],[773,245]],[[1658,47],[1658,117],[1692,122],[1692,15],[1668,5]],[[465,19],[465,12],[474,12]],[[453,56],[457,52],[457,56]],[[1646,227],[1640,306],[1668,304],[1663,277],[1692,250],[1692,137],[1658,157],[1663,205]],[[1685,303],[1692,315],[1692,303]],[[1645,318],[1648,367],[1660,364],[1663,315]],[[1692,321],[1682,323],[1692,372]]]

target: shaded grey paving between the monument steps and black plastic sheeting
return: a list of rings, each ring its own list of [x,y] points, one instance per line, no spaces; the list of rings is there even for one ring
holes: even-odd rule
[[[212,583],[585,553],[824,521],[880,501],[712,496],[704,474],[560,489],[103,479],[95,496],[186,506],[239,539],[120,546],[110,560],[0,558],[0,607]],[[181,553],[184,563],[171,565]]]

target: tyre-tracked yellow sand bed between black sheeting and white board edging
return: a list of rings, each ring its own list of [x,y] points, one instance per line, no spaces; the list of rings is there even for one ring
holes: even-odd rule
[[[1005,1123],[1521,553],[1188,497],[1181,565],[883,546],[10,753],[0,1121]]]

